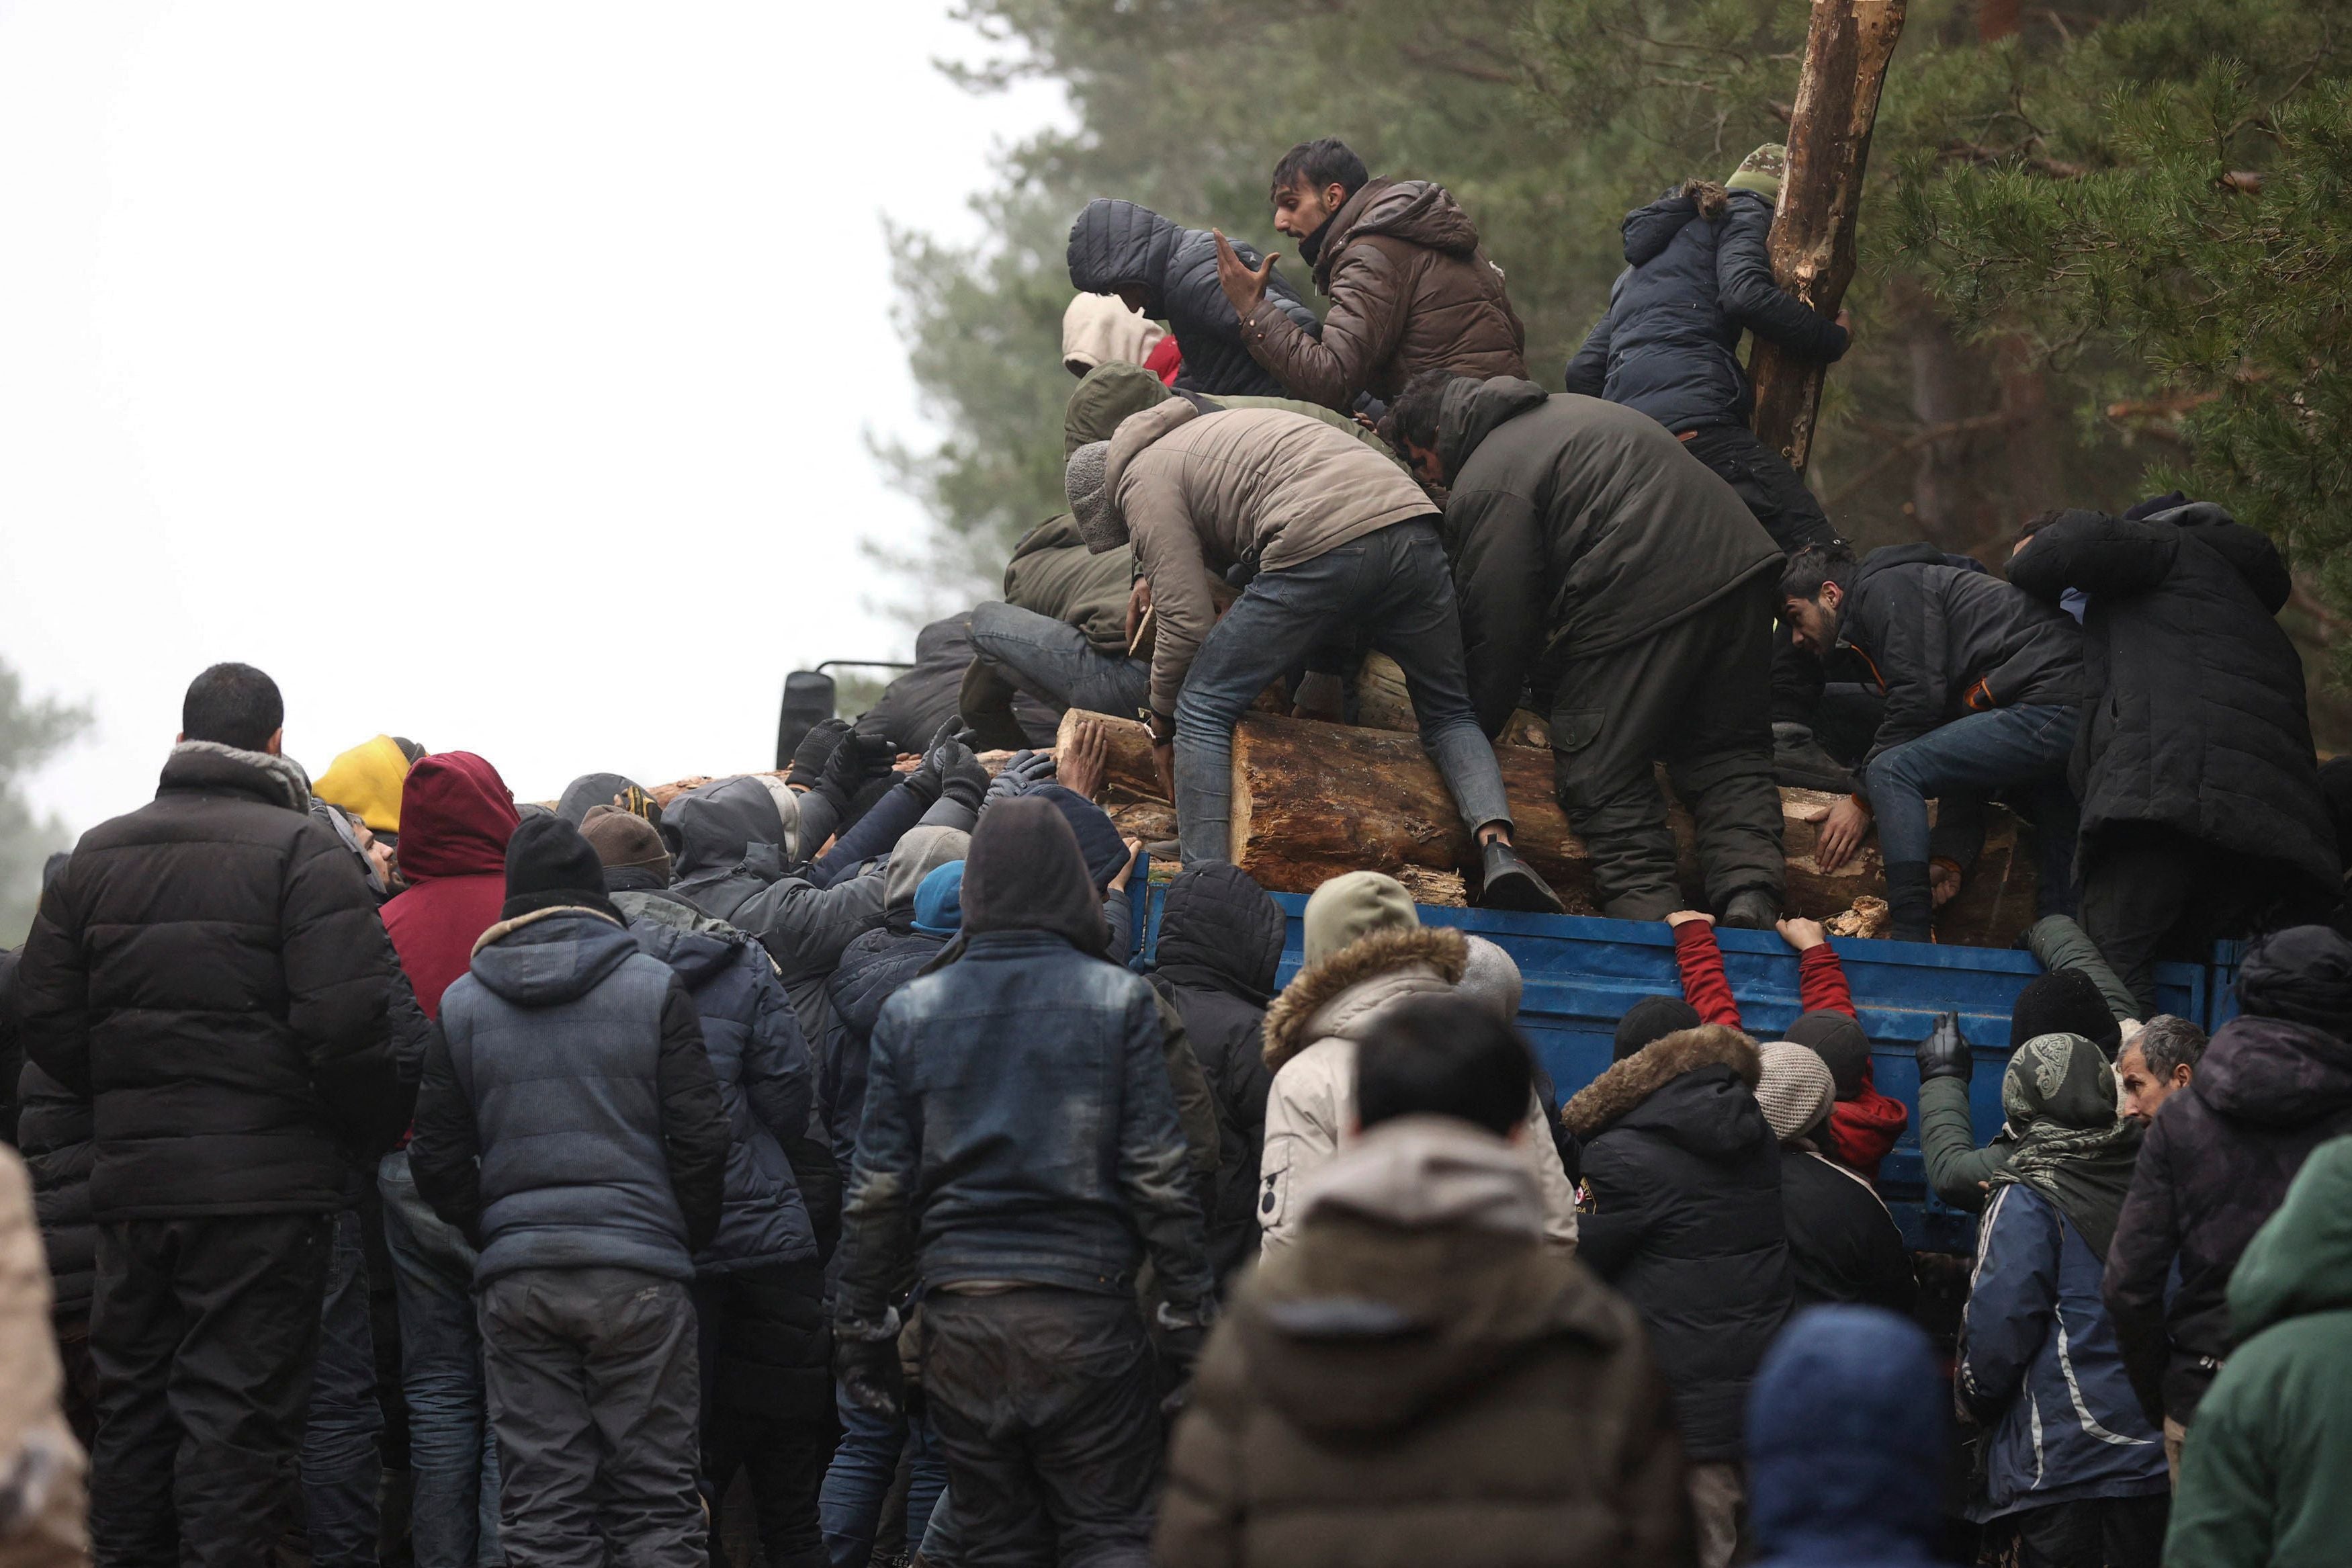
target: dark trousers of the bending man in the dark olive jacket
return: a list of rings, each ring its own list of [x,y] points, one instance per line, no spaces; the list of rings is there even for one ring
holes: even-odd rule
[[[1552,773],[1592,856],[1602,914],[1665,919],[1684,907],[1675,835],[1653,764],[1698,827],[1708,900],[1780,898],[1780,790],[1771,773],[1769,578],[1743,583],[1665,630],[1559,668]]]

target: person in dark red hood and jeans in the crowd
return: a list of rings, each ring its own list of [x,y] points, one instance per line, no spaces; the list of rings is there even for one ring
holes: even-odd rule
[[[506,903],[515,797],[473,752],[440,752],[400,790],[400,875],[383,905],[416,1001],[440,1018],[442,992]],[[383,1157],[383,1244],[400,1300],[400,1385],[409,1401],[409,1502],[416,1568],[473,1568],[494,1556],[499,1462],[482,1410],[482,1342],[473,1314],[473,1248],[416,1194],[409,1152]]]

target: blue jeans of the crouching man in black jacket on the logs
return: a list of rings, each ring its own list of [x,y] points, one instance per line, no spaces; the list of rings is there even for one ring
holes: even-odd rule
[[[1863,788],[1879,820],[1886,865],[1926,865],[1926,802],[1945,795],[2023,790],[2042,849],[2042,914],[2074,912],[2074,830],[2082,811],[2067,785],[2067,757],[2082,710],[2070,705],[1992,708],[1952,719],[1889,748],[1865,769]]]

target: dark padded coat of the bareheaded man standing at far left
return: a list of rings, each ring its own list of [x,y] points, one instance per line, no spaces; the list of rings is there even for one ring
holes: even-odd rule
[[[92,1100],[101,1222],[334,1213],[400,1135],[393,945],[285,757],[174,745],[75,844],[16,985],[26,1058]]]

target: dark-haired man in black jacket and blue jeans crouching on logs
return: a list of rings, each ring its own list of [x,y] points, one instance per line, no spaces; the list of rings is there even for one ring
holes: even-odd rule
[[[1837,870],[1872,816],[1886,858],[1891,936],[1933,936],[1931,799],[2025,790],[2042,849],[2042,914],[2074,910],[2074,792],[2067,757],[2089,682],[2082,628],[1933,545],[1889,545],[1856,562],[1811,545],[1780,574],[1780,611],[1816,656],[1858,649],[1886,691],[1863,759],[1863,792],[1830,809],[1816,860]]]

